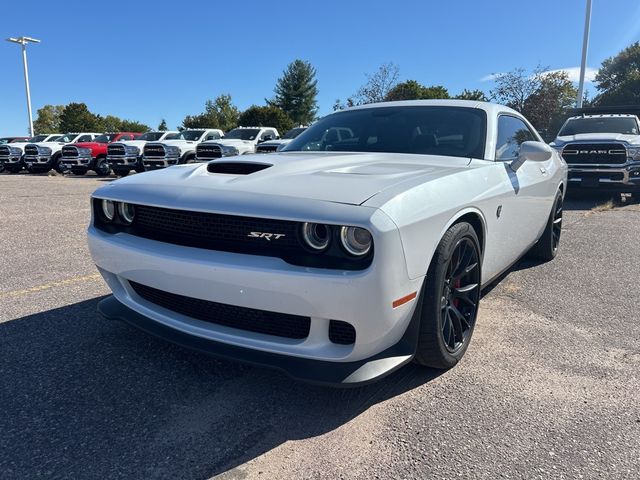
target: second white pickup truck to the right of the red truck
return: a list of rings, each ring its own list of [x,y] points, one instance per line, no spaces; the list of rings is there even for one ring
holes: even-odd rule
[[[143,149],[142,164],[145,170],[166,168],[171,165],[193,162],[196,146],[209,140],[219,140],[224,132],[217,128],[183,130],[167,135],[162,142],[147,142]]]

